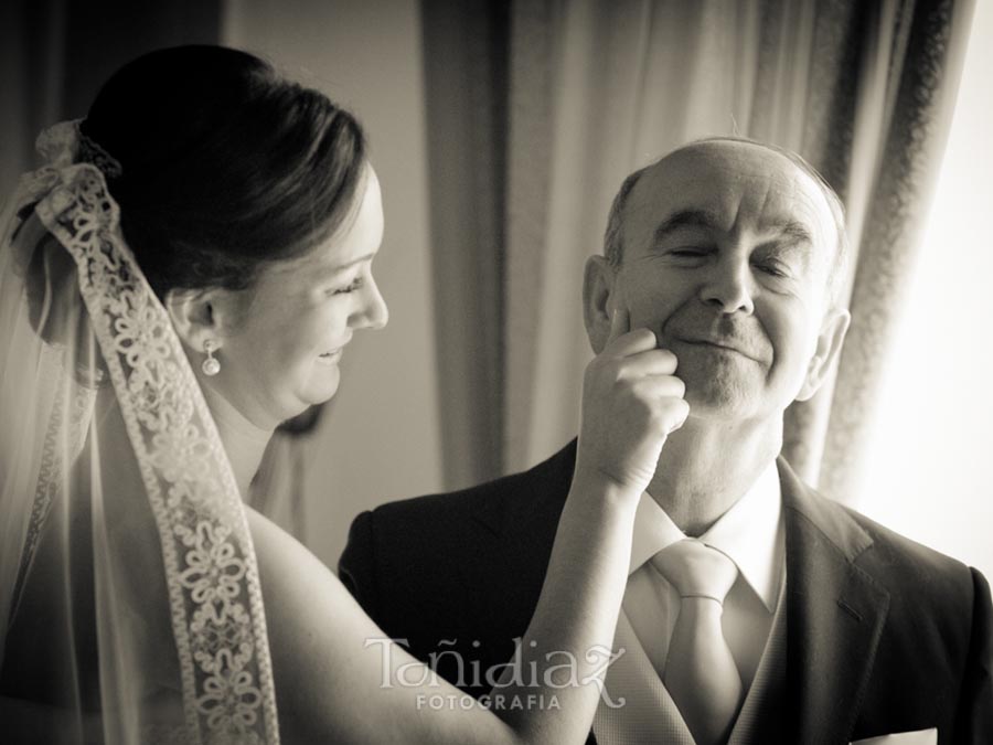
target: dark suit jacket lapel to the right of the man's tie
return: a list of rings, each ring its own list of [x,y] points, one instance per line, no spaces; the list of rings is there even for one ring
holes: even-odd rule
[[[846,743],[889,593],[855,565],[872,539],[779,460],[787,531],[787,742]]]

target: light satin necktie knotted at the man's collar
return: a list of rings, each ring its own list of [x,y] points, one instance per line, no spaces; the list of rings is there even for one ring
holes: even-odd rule
[[[720,616],[738,568],[719,551],[694,540],[663,549],[652,564],[681,598],[662,682],[697,745],[725,743],[741,703],[741,678]]]

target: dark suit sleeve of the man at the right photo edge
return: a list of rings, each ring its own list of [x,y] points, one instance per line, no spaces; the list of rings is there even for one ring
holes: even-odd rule
[[[972,570],[972,636],[955,716],[959,745],[993,743],[993,605],[990,585],[976,570]]]

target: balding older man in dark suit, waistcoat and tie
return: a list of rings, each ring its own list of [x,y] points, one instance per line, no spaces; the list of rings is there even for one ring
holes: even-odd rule
[[[690,414],[638,508],[623,653],[591,742],[993,742],[982,575],[820,497],[779,457],[783,412],[845,336],[844,251],[836,195],[778,148],[704,140],[622,184],[586,267],[590,344],[606,353],[619,323],[653,332],[671,369],[626,374],[674,370]],[[604,428],[585,419],[583,436]],[[342,578],[387,634],[485,692],[470,673],[506,662],[527,626],[575,458],[572,443],[360,515]]]

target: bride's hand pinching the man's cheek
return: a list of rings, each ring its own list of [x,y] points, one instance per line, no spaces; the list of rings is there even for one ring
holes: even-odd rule
[[[655,473],[665,438],[686,421],[675,354],[648,329],[629,330],[617,308],[604,350],[587,365],[576,482],[606,479],[637,500]]]

